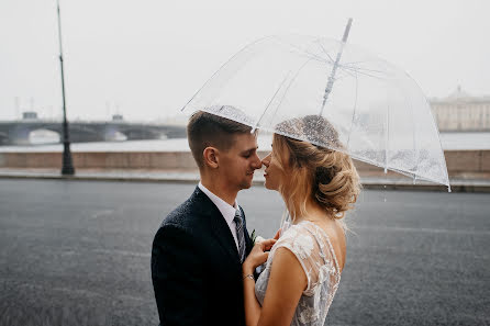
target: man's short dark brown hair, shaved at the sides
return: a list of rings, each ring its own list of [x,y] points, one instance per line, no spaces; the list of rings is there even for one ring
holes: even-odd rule
[[[252,127],[230,119],[198,111],[187,124],[187,139],[192,156],[201,169],[204,167],[203,151],[207,147],[229,150],[235,143],[235,134],[250,133]]]

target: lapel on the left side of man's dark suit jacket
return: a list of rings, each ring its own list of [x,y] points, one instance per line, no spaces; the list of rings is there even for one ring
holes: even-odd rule
[[[215,238],[222,246],[222,248],[229,254],[227,256],[234,261],[238,262],[238,250],[236,249],[235,239],[230,231],[226,221],[221,214],[220,210],[214,205],[214,203],[203,193],[199,187],[196,188],[196,196],[201,202],[201,207],[203,214],[208,215],[210,218],[210,226],[214,233]]]

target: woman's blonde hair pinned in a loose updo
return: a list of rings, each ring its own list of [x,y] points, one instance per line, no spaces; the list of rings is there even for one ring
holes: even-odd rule
[[[292,221],[307,215],[310,198],[333,218],[343,218],[357,201],[360,182],[350,156],[339,151],[345,148],[333,125],[322,116],[308,115],[285,121],[276,130],[308,139],[303,142],[274,134],[274,153],[286,176],[279,192]],[[312,143],[326,144],[338,150]]]

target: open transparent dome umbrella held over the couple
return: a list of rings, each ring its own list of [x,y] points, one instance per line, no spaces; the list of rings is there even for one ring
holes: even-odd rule
[[[182,109],[207,111],[319,146],[415,180],[449,188],[437,125],[427,100],[403,70],[344,38],[269,36],[225,63]],[[235,108],[237,110],[231,110]],[[244,112],[237,114],[236,112]],[[283,121],[319,115],[342,146]],[[318,120],[310,120],[318,123]]]

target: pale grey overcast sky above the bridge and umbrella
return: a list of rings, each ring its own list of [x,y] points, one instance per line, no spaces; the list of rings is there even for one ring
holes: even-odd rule
[[[341,38],[407,70],[427,97],[490,94],[490,1],[60,0],[69,119],[179,113],[256,38]],[[20,110],[15,108],[15,97]],[[55,0],[0,0],[0,120],[62,113]]]

